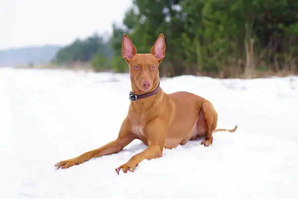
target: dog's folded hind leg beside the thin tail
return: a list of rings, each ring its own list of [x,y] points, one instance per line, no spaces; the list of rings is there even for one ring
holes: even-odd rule
[[[212,131],[217,126],[217,112],[215,111],[213,105],[209,101],[204,101],[201,107],[204,117],[205,117],[205,140],[201,142],[204,146],[209,146],[212,144]]]

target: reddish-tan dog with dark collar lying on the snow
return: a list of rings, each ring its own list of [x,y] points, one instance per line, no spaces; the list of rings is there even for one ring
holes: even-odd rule
[[[216,129],[217,113],[208,100],[188,92],[170,95],[159,86],[160,62],[165,57],[165,38],[160,34],[150,54],[137,54],[130,38],[124,34],[122,56],[130,67],[130,107],[124,119],[118,138],[114,141],[76,158],[60,161],[57,168],[69,168],[89,159],[117,153],[132,140],[140,139],[148,146],[133,156],[127,163],[116,168],[124,173],[132,171],[144,159],[162,157],[163,149],[171,149],[205,136],[201,144],[212,143],[212,133],[226,131]],[[228,130],[234,132],[234,129]]]

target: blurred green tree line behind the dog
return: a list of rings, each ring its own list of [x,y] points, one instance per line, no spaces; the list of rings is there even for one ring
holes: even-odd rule
[[[96,71],[127,72],[124,33],[138,53],[149,53],[165,35],[163,76],[254,78],[258,72],[298,71],[297,0],[133,0],[110,40],[76,40],[54,61],[90,61]]]

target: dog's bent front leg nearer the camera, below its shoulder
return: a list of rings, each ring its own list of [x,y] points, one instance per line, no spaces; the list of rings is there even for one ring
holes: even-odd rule
[[[153,119],[147,125],[145,136],[148,139],[149,146],[143,152],[133,156],[127,163],[116,168],[116,172],[122,169],[124,173],[134,171],[134,168],[144,159],[155,159],[163,156],[163,149],[166,140],[167,127],[162,119]]]

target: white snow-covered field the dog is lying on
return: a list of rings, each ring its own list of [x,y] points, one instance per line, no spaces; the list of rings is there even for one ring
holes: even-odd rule
[[[189,141],[144,160],[134,173],[114,169],[146,147],[56,170],[116,138],[130,101],[129,76],[0,69],[1,199],[297,199],[298,77],[163,79],[166,93],[210,100],[219,128],[210,147]]]

